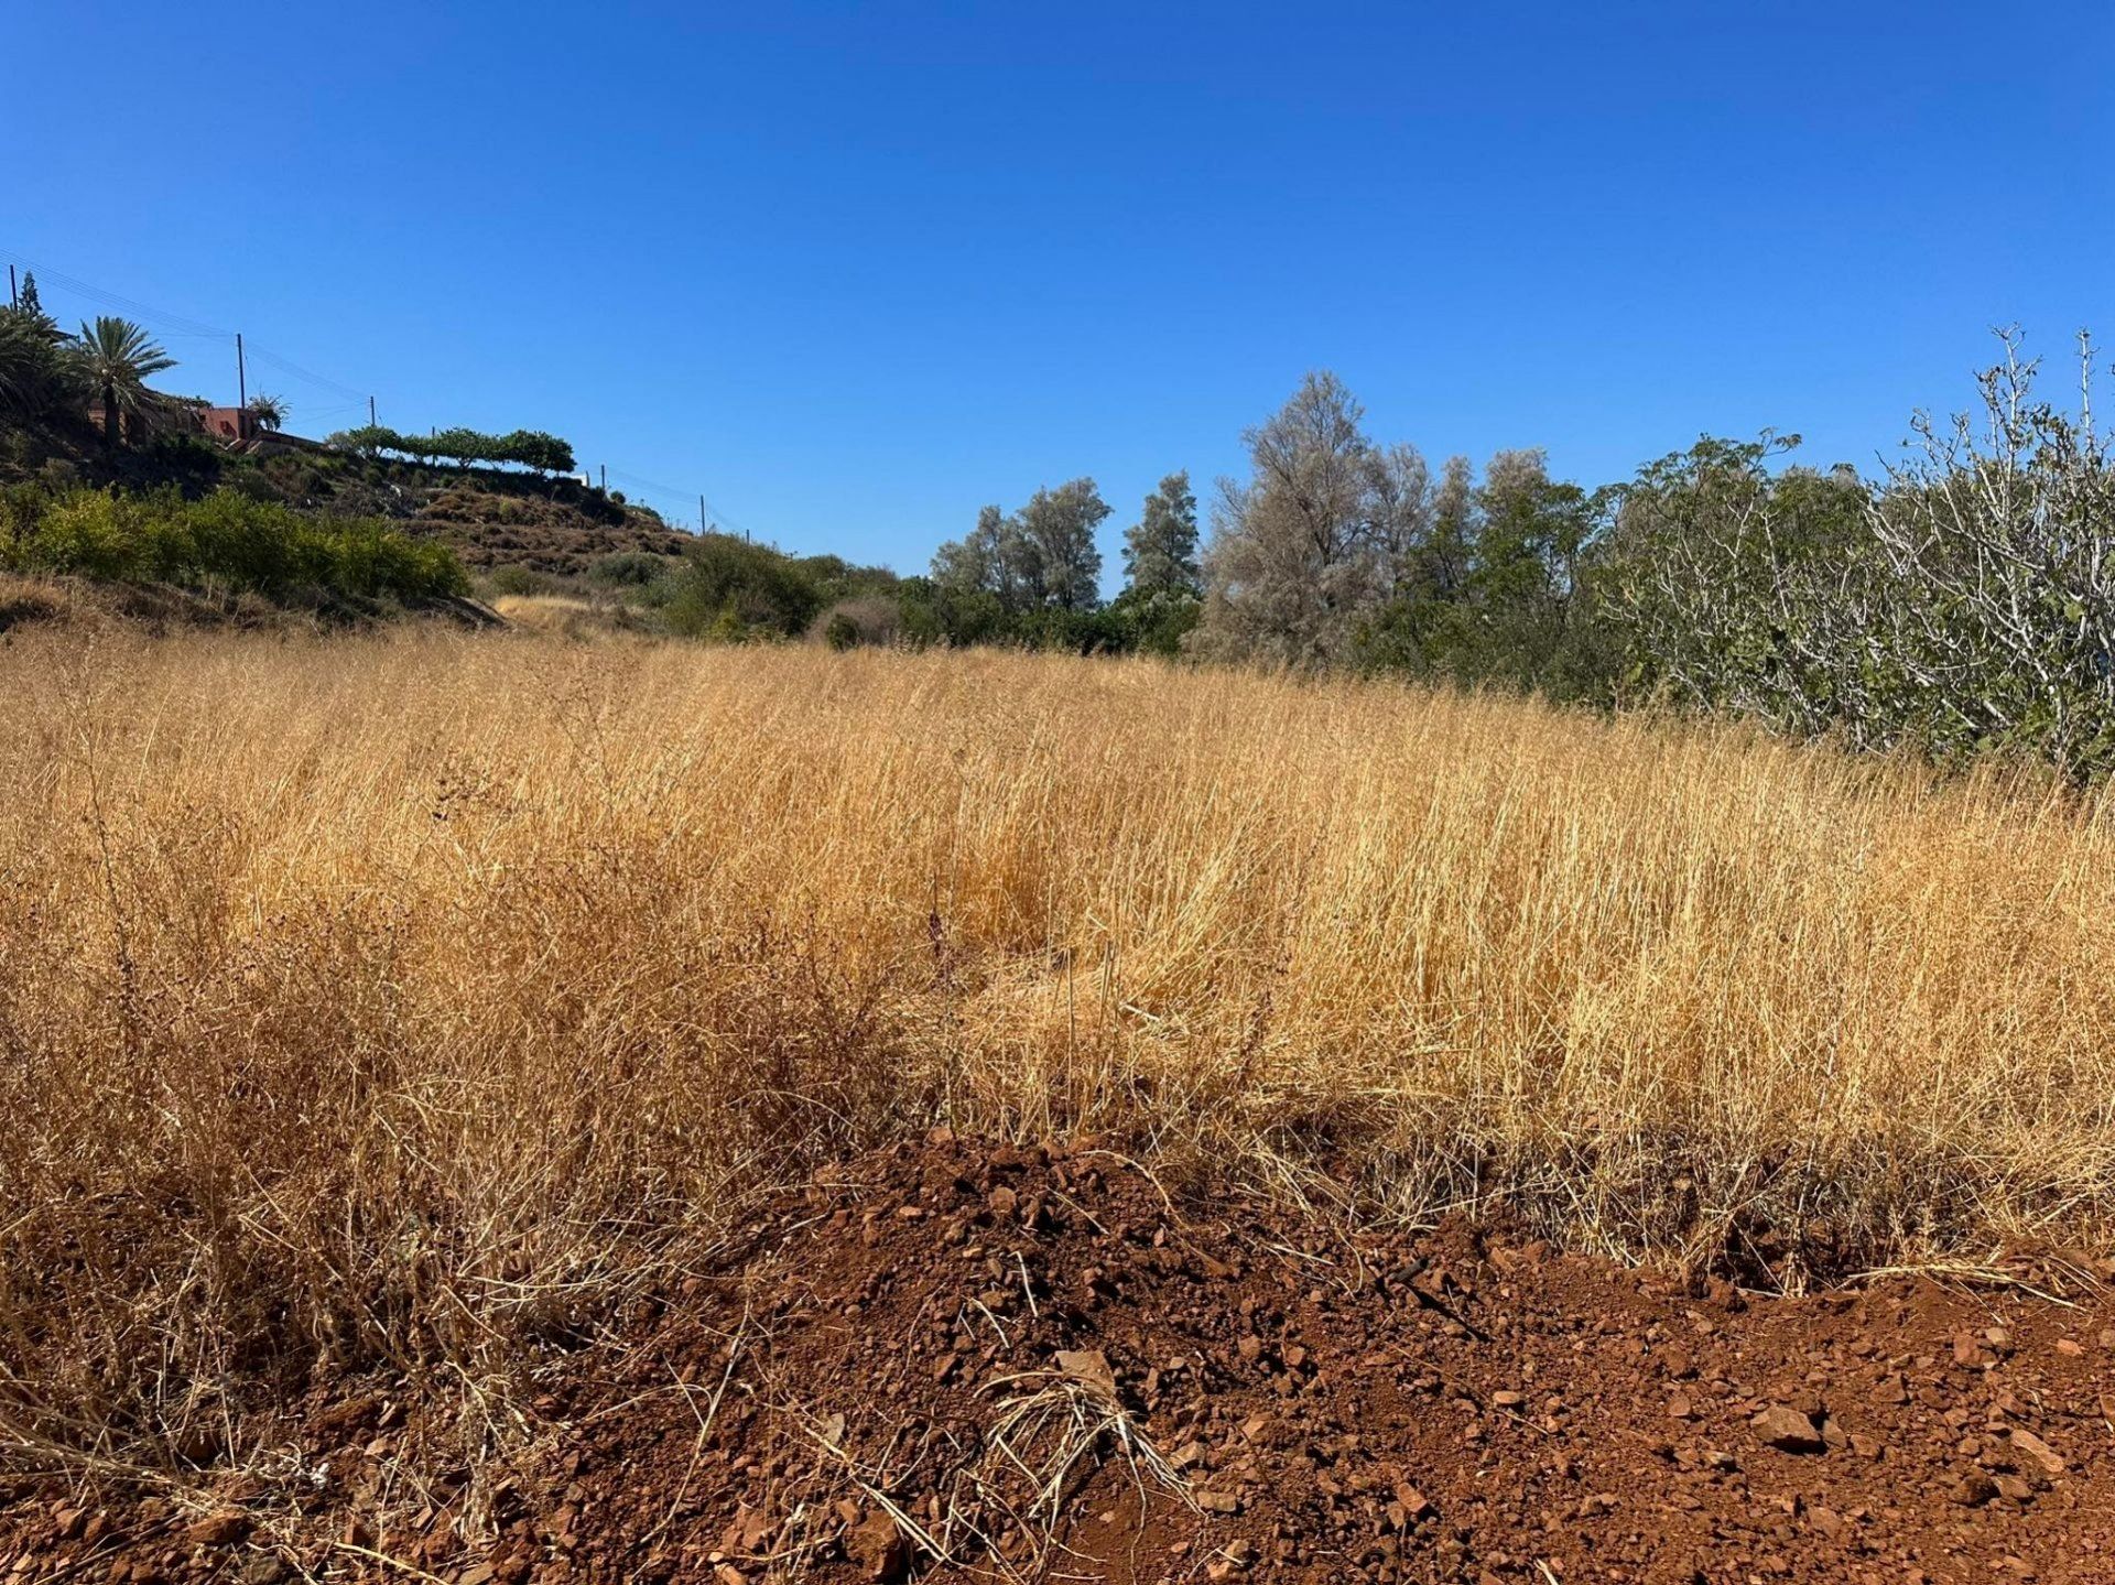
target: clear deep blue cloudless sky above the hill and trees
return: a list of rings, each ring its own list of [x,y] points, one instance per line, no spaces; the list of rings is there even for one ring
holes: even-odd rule
[[[544,427],[673,516],[922,569],[1335,368],[1601,482],[1870,466],[1988,328],[2115,345],[2115,6],[23,0],[0,250],[296,432]],[[47,307],[104,305],[44,279]],[[2060,368],[2068,387],[2071,370]],[[2111,398],[2115,400],[2115,398]],[[336,411],[332,411],[336,408]],[[1201,493],[1201,491],[1199,491]]]

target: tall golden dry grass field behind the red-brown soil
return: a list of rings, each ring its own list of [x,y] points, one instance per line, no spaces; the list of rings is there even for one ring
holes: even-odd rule
[[[1000,654],[49,633],[0,698],[17,1435],[499,1380],[939,1119],[1794,1276],[2115,1204],[2115,825],[2037,783]]]

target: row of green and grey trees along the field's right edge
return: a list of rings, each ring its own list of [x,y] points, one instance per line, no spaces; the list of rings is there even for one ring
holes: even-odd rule
[[[1106,605],[1091,478],[988,506],[905,580],[952,643],[1064,643],[1402,673],[1563,700],[1755,715],[1939,760],[2115,768],[2115,468],[2092,413],[2035,394],[2003,336],[1978,413],[1918,417],[1865,476],[1798,436],[1703,438],[1633,478],[1552,478],[1538,449],[1432,468],[1313,372],[1244,434],[1199,540],[1187,474],[1146,497]]]

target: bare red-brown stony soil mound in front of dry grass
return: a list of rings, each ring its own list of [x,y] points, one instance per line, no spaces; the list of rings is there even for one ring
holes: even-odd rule
[[[2094,1274],[1768,1299],[1093,1149],[859,1162],[522,1418],[408,1403],[319,1388],[188,1490],[0,1483],[0,1579],[2115,1581]]]

